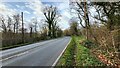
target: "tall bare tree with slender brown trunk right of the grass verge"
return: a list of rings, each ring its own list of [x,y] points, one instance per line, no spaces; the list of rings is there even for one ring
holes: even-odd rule
[[[76,7],[74,9],[78,13],[77,15],[78,15],[81,26],[86,29],[86,39],[88,39],[88,32],[89,32],[88,30],[90,28],[88,3],[76,1],[76,2],[73,2],[72,4],[74,4],[74,6]],[[85,22],[85,26],[82,24],[82,19]]]

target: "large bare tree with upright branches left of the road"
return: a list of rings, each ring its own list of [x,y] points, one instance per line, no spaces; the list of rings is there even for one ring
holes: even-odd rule
[[[46,7],[44,12],[44,16],[46,18],[46,22],[48,24],[48,28],[49,28],[49,32],[48,32],[48,36],[49,37],[55,37],[55,32],[54,32],[54,26],[56,25],[56,18],[58,18],[57,15],[57,8],[53,7],[53,6],[48,6]],[[53,29],[53,31],[52,31]]]

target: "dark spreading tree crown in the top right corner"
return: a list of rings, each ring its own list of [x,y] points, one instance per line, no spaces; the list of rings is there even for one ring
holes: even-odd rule
[[[92,5],[96,9],[97,15],[93,18],[100,20],[102,24],[112,31],[114,26],[118,24],[120,16],[120,3],[119,2],[93,2]],[[113,23],[114,22],[114,23]]]

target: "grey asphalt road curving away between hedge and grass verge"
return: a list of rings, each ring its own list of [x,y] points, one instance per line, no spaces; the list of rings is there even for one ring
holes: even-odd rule
[[[27,45],[28,48],[30,46],[36,47],[25,50],[14,58],[2,61],[2,66],[52,66],[69,41],[70,37],[63,37]],[[22,49],[27,48],[27,46],[22,47]],[[20,48],[3,51],[3,54],[20,50]]]

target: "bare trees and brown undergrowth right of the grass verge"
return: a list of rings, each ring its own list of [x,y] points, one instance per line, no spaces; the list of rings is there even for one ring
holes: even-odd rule
[[[112,64],[120,62],[120,2],[71,2],[78,15],[81,33],[97,46],[92,50],[104,54]],[[94,14],[93,11],[95,10]],[[94,22],[91,22],[94,20]],[[84,24],[83,24],[84,22]],[[88,44],[87,43],[87,44]]]

